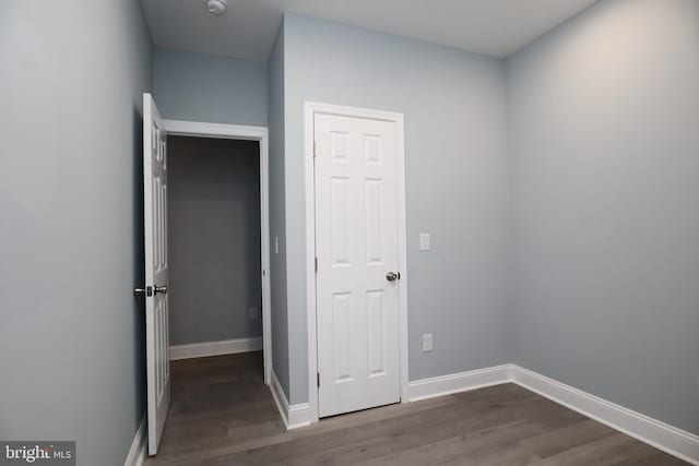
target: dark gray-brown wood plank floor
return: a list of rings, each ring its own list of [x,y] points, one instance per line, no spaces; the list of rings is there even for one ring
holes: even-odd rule
[[[173,404],[146,466],[685,464],[514,384],[286,432],[259,353],[173,362]]]

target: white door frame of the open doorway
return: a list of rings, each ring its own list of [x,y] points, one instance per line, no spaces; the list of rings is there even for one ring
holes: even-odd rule
[[[218,138],[258,141],[260,143],[260,232],[262,278],[262,353],[264,383],[270,384],[272,372],[272,309],[270,296],[270,174],[269,134],[265,127],[203,123],[199,121],[163,120],[168,135]]]

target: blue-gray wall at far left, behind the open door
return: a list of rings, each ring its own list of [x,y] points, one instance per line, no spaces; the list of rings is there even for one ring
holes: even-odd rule
[[[144,404],[138,0],[0,2],[0,439],[123,465]]]

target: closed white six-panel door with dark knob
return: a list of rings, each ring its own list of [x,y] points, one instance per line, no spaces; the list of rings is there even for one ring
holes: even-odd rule
[[[400,401],[396,130],[316,113],[319,416]],[[394,273],[395,276],[390,275]]]

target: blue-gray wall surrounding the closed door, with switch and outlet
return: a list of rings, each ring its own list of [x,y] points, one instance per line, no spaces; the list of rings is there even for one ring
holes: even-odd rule
[[[284,81],[291,403],[308,397],[305,100],[405,115],[410,379],[508,362],[503,62],[287,15]]]

